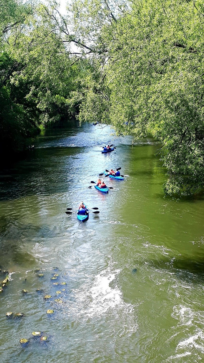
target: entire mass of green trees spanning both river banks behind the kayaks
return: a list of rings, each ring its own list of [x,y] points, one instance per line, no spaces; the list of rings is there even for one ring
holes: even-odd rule
[[[77,111],[80,122],[159,140],[167,194],[203,190],[201,0],[74,0],[65,16],[54,0],[9,0],[0,20],[3,145],[20,150]]]

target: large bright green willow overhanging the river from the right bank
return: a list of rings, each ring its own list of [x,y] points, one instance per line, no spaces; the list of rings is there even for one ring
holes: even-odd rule
[[[73,4],[75,34],[91,48],[79,119],[161,143],[166,193],[204,187],[204,4],[133,0]],[[127,125],[126,125],[127,124]]]

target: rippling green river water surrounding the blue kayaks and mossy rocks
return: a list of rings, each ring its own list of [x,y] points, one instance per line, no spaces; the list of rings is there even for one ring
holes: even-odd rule
[[[117,148],[103,155],[107,142]],[[204,200],[163,197],[157,148],[75,126],[42,133],[25,160],[1,172],[0,265],[12,273],[0,295],[3,362],[203,361]],[[108,195],[87,188],[120,166],[125,180],[106,178]],[[65,214],[81,200],[100,210],[84,224]],[[7,311],[26,317],[7,320]],[[37,330],[49,343],[21,348]]]

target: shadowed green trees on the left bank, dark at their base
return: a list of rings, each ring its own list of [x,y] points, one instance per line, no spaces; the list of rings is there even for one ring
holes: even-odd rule
[[[56,4],[51,10],[16,0],[2,5],[0,147],[20,151],[40,129],[76,113],[70,93],[78,65],[53,21]]]

